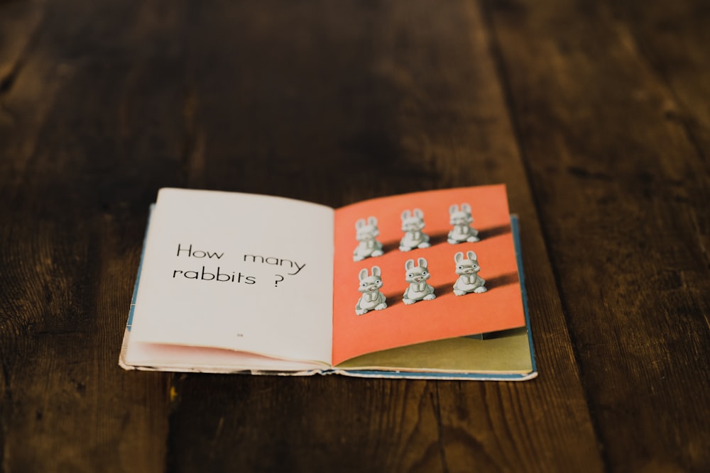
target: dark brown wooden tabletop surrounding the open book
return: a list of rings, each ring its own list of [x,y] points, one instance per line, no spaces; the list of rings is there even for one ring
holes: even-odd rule
[[[705,0],[0,0],[0,471],[710,470]],[[504,182],[540,377],[124,372],[160,187]]]

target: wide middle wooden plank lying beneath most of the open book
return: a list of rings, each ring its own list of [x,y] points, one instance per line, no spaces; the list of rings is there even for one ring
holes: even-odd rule
[[[202,151],[187,181],[332,206],[507,182],[523,222],[542,374],[526,384],[181,377],[173,386],[169,469],[601,470],[488,26],[476,6],[284,1],[195,8],[185,74],[195,149]]]

